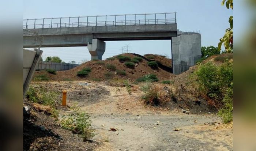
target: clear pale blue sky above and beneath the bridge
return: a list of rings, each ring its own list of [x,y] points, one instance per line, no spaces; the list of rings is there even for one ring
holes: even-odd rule
[[[221,5],[222,0],[24,0],[23,19],[57,18],[115,14],[144,14],[177,12],[177,28],[181,31],[199,31],[202,46],[217,47],[219,39],[229,28],[233,11]],[[166,54],[171,56],[170,40],[106,41],[102,59],[120,54],[129,44],[129,52],[140,55]],[[59,56],[63,61],[90,60],[87,47],[41,48],[42,57]]]

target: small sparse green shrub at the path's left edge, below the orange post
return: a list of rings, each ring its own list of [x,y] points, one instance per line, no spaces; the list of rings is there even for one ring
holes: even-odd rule
[[[61,127],[70,130],[72,133],[78,133],[84,141],[91,139],[95,134],[91,128],[90,116],[81,112],[77,107],[74,113],[63,116]]]

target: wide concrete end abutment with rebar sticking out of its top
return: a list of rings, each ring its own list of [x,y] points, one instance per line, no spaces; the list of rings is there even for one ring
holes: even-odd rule
[[[172,37],[173,73],[187,71],[201,58],[201,35],[199,33],[178,32]]]

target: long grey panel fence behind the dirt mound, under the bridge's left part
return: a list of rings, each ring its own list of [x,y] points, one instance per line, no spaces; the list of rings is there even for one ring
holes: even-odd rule
[[[79,64],[68,64],[68,63],[52,63],[47,61],[40,61],[35,70],[55,69],[57,71],[69,70],[79,66]]]

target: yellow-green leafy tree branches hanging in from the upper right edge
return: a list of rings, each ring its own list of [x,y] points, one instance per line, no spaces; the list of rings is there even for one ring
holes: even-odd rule
[[[226,2],[227,9],[231,8],[233,10],[233,0],[222,0],[221,5],[224,5]],[[221,50],[221,45],[225,47],[225,52],[233,52],[233,16],[229,17],[230,28],[226,29],[224,36],[219,39],[218,49]]]

